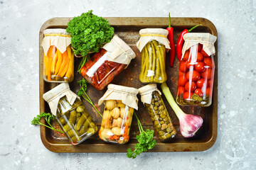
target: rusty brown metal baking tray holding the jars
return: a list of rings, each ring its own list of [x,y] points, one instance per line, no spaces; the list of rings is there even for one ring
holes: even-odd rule
[[[43,40],[43,30],[47,28],[67,28],[67,23],[72,18],[51,18],[50,20],[43,23],[39,33],[39,91],[40,91],[40,112],[50,112],[48,103],[43,101],[43,94],[53,89],[57,86],[56,83],[47,83],[43,81],[43,47],[41,47],[41,42]],[[141,67],[141,55],[136,47],[136,42],[139,40],[139,30],[142,28],[166,28],[169,23],[168,18],[106,18],[110,25],[114,27],[115,33],[122,38],[127,44],[132,47],[137,57],[132,60],[127,69],[124,69],[115,79],[112,84],[120,84],[124,86],[133,86],[134,88],[139,88],[143,86],[139,81],[139,72]],[[178,35],[184,28],[191,28],[198,24],[202,26],[193,30],[193,32],[211,33],[217,36],[217,30],[213,23],[208,21],[206,18],[171,18],[171,24],[174,27],[174,42],[177,42]],[[213,103],[207,108],[201,107],[181,107],[185,113],[192,113],[196,115],[201,115],[203,118],[203,126],[196,133],[196,136],[191,138],[184,138],[181,136],[181,132],[178,132],[174,139],[168,142],[161,142],[158,136],[154,135],[157,145],[154,149],[149,150],[149,152],[188,152],[188,151],[203,151],[209,149],[213,146],[217,138],[217,120],[218,120],[218,42],[215,42],[215,79],[213,87]],[[166,55],[168,56],[168,55]],[[77,81],[82,79],[80,74],[76,72],[78,64],[81,59],[75,59],[75,79],[70,83],[70,89],[75,93],[78,92],[79,86]],[[168,74],[168,79],[166,84],[171,89],[171,93],[174,98],[176,98],[177,82],[178,82],[178,60],[175,59],[174,67],[169,67],[169,57],[166,57],[166,72]],[[159,89],[160,86],[159,86]],[[106,89],[103,91],[97,91],[92,86],[88,86],[87,94],[91,97],[93,103],[97,103],[98,99],[102,97]],[[140,96],[138,95],[140,99]],[[176,130],[179,131],[178,118],[176,117],[174,111],[169,106],[169,103],[164,99],[166,108],[169,111],[172,122]],[[100,124],[102,118],[92,110],[92,106],[85,100],[82,100],[87,108],[87,111],[92,115],[93,120],[98,125],[100,129]],[[100,106],[100,112],[102,113],[104,106]],[[139,119],[142,121],[143,128],[153,129],[153,124],[149,118],[146,109],[144,108],[141,101],[139,101],[139,111],[137,111]],[[44,120],[41,120],[45,123]],[[58,126],[58,123],[53,122],[54,125]],[[139,133],[137,120],[134,118],[132,122],[132,127],[130,131],[130,140],[125,145],[112,145],[100,140],[97,134],[90,137],[85,142],[80,145],[73,146],[70,145],[68,139],[58,132],[45,128],[41,126],[41,140],[43,145],[46,146],[52,152],[127,152],[127,148],[134,148],[137,143],[136,135]]]

